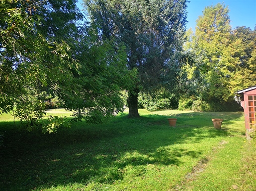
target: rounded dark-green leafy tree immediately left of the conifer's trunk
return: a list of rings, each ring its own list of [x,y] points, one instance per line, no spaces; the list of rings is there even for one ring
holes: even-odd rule
[[[72,82],[72,94],[60,98],[66,100],[66,108],[77,111],[77,117],[84,117],[87,123],[100,123],[123,111],[121,90],[134,82],[137,72],[127,70],[123,46],[99,40],[93,28],[86,28],[89,34],[77,42],[81,74]]]

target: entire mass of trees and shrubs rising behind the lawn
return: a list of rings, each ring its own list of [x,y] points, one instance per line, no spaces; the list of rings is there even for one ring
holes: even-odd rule
[[[49,104],[100,123],[129,107],[234,110],[237,90],[255,85],[256,30],[232,30],[228,8],[206,7],[186,32],[186,0],[2,0],[0,113],[38,120]],[[125,93],[125,94],[124,94]]]

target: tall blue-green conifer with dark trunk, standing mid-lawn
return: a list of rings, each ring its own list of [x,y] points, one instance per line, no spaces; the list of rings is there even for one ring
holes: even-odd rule
[[[137,68],[136,83],[128,89],[129,117],[138,117],[138,93],[168,85],[175,87],[186,0],[84,0],[91,23],[102,39],[124,43],[127,68]]]

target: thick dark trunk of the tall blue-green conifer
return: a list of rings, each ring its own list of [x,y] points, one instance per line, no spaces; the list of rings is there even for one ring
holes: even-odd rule
[[[135,117],[140,117],[139,111],[138,111],[138,94],[139,90],[134,90],[132,93],[129,92],[128,95],[128,106],[129,106],[129,118],[135,118]]]

